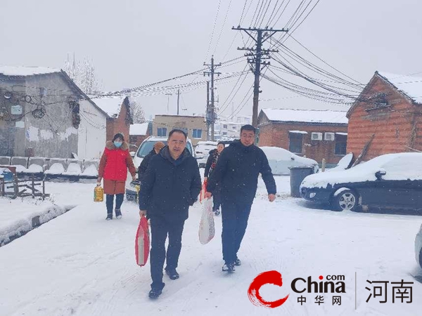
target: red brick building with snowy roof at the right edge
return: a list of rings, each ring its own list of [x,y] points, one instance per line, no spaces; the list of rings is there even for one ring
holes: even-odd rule
[[[347,152],[362,160],[422,150],[422,78],[375,72],[347,112]]]

